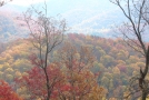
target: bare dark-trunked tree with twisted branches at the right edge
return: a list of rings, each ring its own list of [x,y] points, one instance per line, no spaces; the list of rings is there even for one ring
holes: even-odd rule
[[[110,0],[110,2],[118,6],[128,20],[118,28],[123,41],[146,59],[146,67],[140,68],[139,77],[130,80],[130,94],[140,92],[142,100],[146,100],[149,93],[149,83],[146,79],[149,69],[149,46],[143,40],[149,31],[149,0]]]

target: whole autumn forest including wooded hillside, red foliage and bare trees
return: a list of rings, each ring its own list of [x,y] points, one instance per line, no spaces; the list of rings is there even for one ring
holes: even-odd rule
[[[47,14],[46,1],[17,17],[23,32],[10,30],[26,37],[0,24],[0,100],[149,100],[149,1],[123,1],[109,0],[127,18],[113,38],[71,32]]]

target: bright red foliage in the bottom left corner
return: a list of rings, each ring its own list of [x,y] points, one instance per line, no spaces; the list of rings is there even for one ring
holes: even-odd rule
[[[22,100],[22,99],[19,98],[14,91],[12,91],[11,87],[7,82],[0,80],[0,100]]]

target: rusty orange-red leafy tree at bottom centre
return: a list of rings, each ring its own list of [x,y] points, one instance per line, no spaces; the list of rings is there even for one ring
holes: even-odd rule
[[[77,60],[73,60],[71,66],[66,62],[66,79],[59,90],[62,97],[80,99],[91,91],[96,76],[86,67],[83,62],[78,62]]]

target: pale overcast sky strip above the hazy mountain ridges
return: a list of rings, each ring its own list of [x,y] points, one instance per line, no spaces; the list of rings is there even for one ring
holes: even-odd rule
[[[29,7],[30,4],[42,4],[44,0],[13,0],[11,4]],[[63,13],[72,9],[88,9],[95,11],[116,9],[109,0],[46,0],[48,10],[54,13]]]

